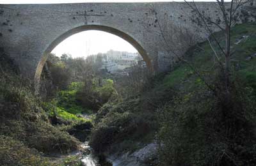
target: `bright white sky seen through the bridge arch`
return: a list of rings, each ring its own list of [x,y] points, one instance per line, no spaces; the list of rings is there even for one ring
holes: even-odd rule
[[[134,47],[122,38],[103,31],[83,31],[73,34],[63,40],[52,50],[56,56],[71,54],[72,57],[86,57],[108,50],[120,50],[127,52],[138,52]]]

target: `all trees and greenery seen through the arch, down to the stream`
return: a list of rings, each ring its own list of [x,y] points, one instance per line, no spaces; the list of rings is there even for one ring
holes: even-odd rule
[[[42,75],[42,86],[55,89],[46,93],[42,104],[51,123],[83,142],[93,127],[93,114],[116,95],[113,80],[102,76],[99,71],[99,56],[96,60],[94,63],[93,57],[72,59],[65,54],[61,58],[50,54]],[[63,82],[60,82],[62,77]]]

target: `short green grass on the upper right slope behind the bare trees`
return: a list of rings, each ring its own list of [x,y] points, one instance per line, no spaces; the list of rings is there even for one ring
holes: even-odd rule
[[[222,33],[216,33],[218,39],[223,43]],[[243,38],[243,36],[248,36],[241,40],[238,45],[236,43],[237,39]],[[240,24],[232,28],[232,50],[234,54],[232,56],[233,66],[238,66],[238,74],[241,75],[246,81],[250,81],[252,84],[256,82],[256,56],[250,60],[246,58],[252,56],[256,53],[256,24]],[[209,71],[211,72],[211,67],[213,63],[212,54],[214,54],[209,46],[208,42],[200,43],[200,47],[204,49],[192,49],[188,52],[189,61],[195,66],[198,71]],[[163,80],[163,85],[161,87],[189,87],[191,82],[188,82],[188,78],[193,77],[193,71],[186,64],[181,64],[175,70],[168,73]],[[197,78],[198,79],[198,78]],[[196,83],[196,80],[194,80]]]

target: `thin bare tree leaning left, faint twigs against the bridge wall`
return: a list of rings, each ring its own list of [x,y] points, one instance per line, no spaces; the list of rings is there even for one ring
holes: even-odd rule
[[[155,27],[153,33],[162,39],[159,45],[161,45],[160,47],[168,54],[168,59],[172,59],[172,61],[169,61],[168,63],[171,63],[173,66],[179,61],[187,64],[205,85],[214,91],[200,71],[198,71],[185,56],[186,51],[190,47],[196,45],[196,42],[202,41],[200,36],[195,32],[196,28],[191,29],[191,27],[186,26],[186,20],[185,22],[182,22],[183,24],[174,24],[172,20],[169,20],[170,17],[168,17],[166,13],[160,15],[154,5],[150,6],[150,12],[154,15],[154,17],[152,17],[152,24],[154,24]]]

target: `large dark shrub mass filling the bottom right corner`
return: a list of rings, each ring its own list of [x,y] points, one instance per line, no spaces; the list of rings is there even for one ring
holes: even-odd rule
[[[238,82],[228,104],[201,87],[161,109],[160,165],[255,165],[255,102]]]

